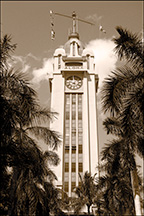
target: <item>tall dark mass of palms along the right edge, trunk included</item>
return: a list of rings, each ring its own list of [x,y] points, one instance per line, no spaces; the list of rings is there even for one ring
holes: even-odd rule
[[[105,208],[110,213],[124,214],[128,208],[134,215],[141,211],[140,202],[135,202],[134,210],[133,194],[134,200],[140,195],[136,153],[144,157],[144,54],[142,40],[136,34],[116,29],[120,36],[114,39],[115,50],[126,63],[111,72],[102,89],[103,110],[111,115],[104,126],[117,139],[102,152],[107,175],[100,182],[105,184]]]

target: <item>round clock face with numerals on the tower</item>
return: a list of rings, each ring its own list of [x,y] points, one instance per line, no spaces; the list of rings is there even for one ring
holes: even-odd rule
[[[82,86],[82,79],[78,76],[70,76],[66,79],[66,86],[72,90],[79,89]]]

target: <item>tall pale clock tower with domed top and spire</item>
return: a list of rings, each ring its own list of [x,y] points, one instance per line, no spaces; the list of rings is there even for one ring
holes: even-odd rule
[[[54,53],[53,76],[49,79],[51,110],[58,113],[51,129],[62,137],[58,154],[60,164],[54,168],[57,186],[74,196],[85,171],[98,173],[98,75],[94,55],[85,49],[76,31],[76,15],[68,41]]]

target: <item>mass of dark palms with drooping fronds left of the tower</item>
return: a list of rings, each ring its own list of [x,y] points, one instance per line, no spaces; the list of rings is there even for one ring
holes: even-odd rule
[[[11,38],[4,36],[0,44],[1,191],[2,197],[7,197],[7,203],[5,198],[1,199],[2,206],[3,209],[9,207],[8,215],[23,215],[24,212],[32,215],[38,206],[49,212],[43,188],[45,182],[53,185],[56,176],[45,161],[47,158],[48,162],[58,164],[59,158],[53,150],[59,144],[59,135],[42,124],[49,122],[55,113],[41,108],[25,76],[8,67],[10,52],[15,49]],[[38,147],[40,140],[52,151],[43,154]],[[8,167],[12,168],[10,175]]]

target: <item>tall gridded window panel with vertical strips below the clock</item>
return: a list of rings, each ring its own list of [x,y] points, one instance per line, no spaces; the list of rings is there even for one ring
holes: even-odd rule
[[[71,172],[71,182],[76,182],[76,172],[83,173],[83,95],[65,93],[64,122],[64,173]],[[77,146],[77,147],[76,147]],[[71,149],[70,149],[71,148]],[[69,159],[71,158],[71,162]],[[79,163],[76,163],[78,159]],[[70,164],[71,163],[71,164]],[[70,168],[69,168],[70,167]],[[68,182],[68,179],[64,179]],[[71,184],[71,183],[69,183]]]

